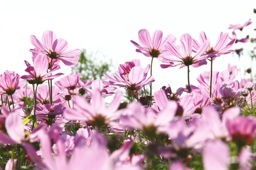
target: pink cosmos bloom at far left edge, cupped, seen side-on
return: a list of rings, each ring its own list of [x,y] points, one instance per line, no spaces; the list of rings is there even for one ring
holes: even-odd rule
[[[15,74],[13,71],[5,71],[4,74],[0,75],[0,94],[12,95],[16,90],[20,89],[20,75]],[[22,85],[21,88],[25,86]]]

